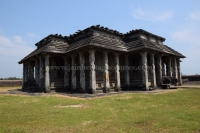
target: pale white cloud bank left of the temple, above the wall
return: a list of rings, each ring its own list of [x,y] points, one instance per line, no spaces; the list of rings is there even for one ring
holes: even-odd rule
[[[17,62],[36,48],[31,39],[34,43],[39,40],[29,34],[7,37],[0,33],[0,78],[22,77],[22,65]]]

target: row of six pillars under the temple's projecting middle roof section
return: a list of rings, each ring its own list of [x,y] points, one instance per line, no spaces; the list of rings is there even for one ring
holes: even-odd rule
[[[75,66],[75,55],[71,55],[72,58],[72,66]],[[84,71],[84,64],[85,64],[85,58],[84,54],[82,52],[79,52],[79,62],[80,62],[80,88],[83,92],[86,90],[86,84],[85,84],[85,71]],[[108,71],[108,52],[104,51],[104,92],[109,92],[110,84],[109,84],[109,71]],[[65,66],[68,66],[68,59],[67,57],[64,58],[64,64]],[[95,50],[89,50],[89,63],[90,63],[90,89],[92,93],[96,92],[96,72],[95,72]],[[120,73],[119,73],[119,54],[115,54],[115,90],[120,90]],[[64,73],[64,87],[69,86],[69,70],[65,70]],[[76,89],[76,70],[72,68],[72,74],[71,74],[71,81],[72,81],[72,90],[75,91]]]

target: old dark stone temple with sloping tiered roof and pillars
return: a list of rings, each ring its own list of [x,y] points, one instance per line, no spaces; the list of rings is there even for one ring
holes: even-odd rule
[[[24,91],[96,93],[182,84],[184,55],[142,29],[122,34],[100,25],[69,36],[50,34],[24,57]]]

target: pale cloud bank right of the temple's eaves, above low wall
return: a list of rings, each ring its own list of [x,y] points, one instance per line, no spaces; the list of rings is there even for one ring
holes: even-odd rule
[[[198,28],[198,25],[191,26],[190,24],[186,24],[183,27],[181,30],[172,33],[172,39],[180,49],[179,52],[186,56],[186,59],[183,59],[183,62],[181,63],[182,72],[187,75],[199,74],[200,29]]]

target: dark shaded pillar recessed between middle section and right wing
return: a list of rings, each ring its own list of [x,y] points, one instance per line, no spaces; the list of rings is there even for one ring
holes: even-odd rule
[[[126,85],[126,89],[129,90],[130,89],[130,75],[129,75],[129,59],[128,59],[129,55],[125,55],[125,66],[126,66],[126,70],[125,70],[125,85]]]

